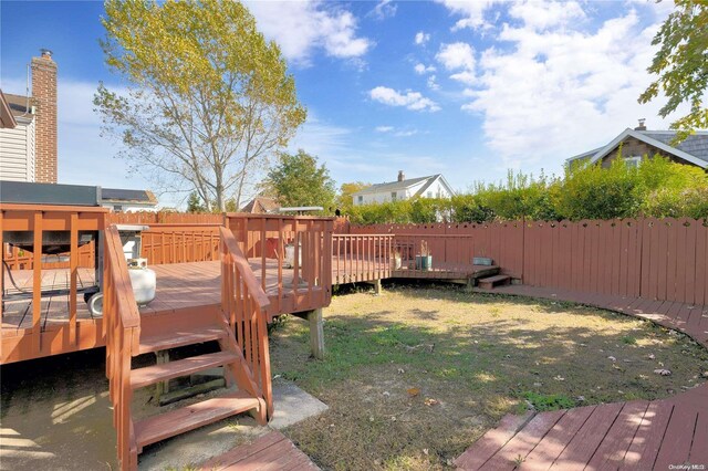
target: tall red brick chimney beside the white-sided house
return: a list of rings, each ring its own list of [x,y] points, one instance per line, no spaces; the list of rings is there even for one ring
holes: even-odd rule
[[[52,51],[42,49],[32,57],[32,100],[34,115],[34,181],[56,182],[56,63]]]

